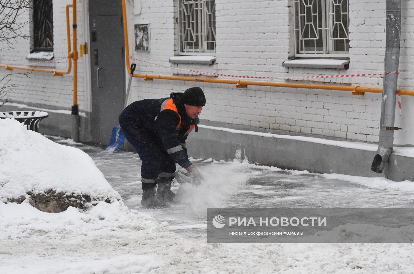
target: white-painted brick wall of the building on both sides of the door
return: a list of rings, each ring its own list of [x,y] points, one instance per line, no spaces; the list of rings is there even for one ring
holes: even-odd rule
[[[135,1],[138,4],[139,1]],[[168,59],[178,52],[177,0],[142,0],[142,11],[132,14],[126,1],[130,54],[135,58],[171,67],[205,70],[233,75],[295,77],[307,75],[353,74],[383,72],[385,55],[385,0],[349,0],[350,67],[349,70],[285,68],[282,62],[294,55],[292,0],[216,0],[215,65],[170,64]],[[414,89],[414,2],[402,1],[402,35],[400,55],[400,89]],[[82,6],[79,24],[82,22]],[[56,12],[55,12],[56,10]],[[64,4],[54,1],[54,17],[63,17]],[[60,18],[63,22],[64,19]],[[134,49],[134,24],[150,24],[151,51]],[[59,29],[60,28],[60,29]],[[55,56],[65,56],[65,25],[55,24]],[[56,33],[59,33],[57,35]],[[78,27],[79,43],[82,28]],[[86,36],[87,37],[87,36]],[[83,38],[84,39],[84,38]],[[58,46],[60,45],[60,46]],[[24,52],[24,53],[23,53]],[[24,63],[29,45],[23,43],[16,50],[0,52],[2,62]],[[17,54],[16,54],[17,53]],[[82,63],[82,62],[80,62]],[[82,81],[83,67],[79,68]],[[59,67],[65,67],[64,64]],[[137,72],[161,75],[188,75],[155,65],[137,62]],[[4,71],[1,71],[2,75]],[[194,75],[194,73],[192,73]],[[205,77],[205,76],[203,76]],[[128,78],[128,77],[127,77]],[[36,79],[22,81],[13,97],[21,101],[36,101],[53,106],[69,107],[71,77],[36,74]],[[284,80],[280,80],[283,82]],[[45,82],[48,84],[45,88]],[[313,83],[312,81],[291,81]],[[380,78],[325,79],[329,84],[352,84],[382,87]],[[26,87],[25,87],[26,85]],[[172,91],[184,91],[200,86],[205,90],[207,105],[201,118],[254,127],[315,133],[360,141],[377,142],[380,118],[380,94],[354,96],[351,92],[317,89],[289,89],[249,86],[236,89],[234,85],[201,82],[179,82],[133,79],[129,102],[143,98],[168,96]],[[79,105],[88,110],[88,96],[79,84]],[[50,96],[53,92],[52,96]],[[396,126],[408,130],[395,132],[396,144],[414,144],[414,99],[402,96],[402,117],[397,115]],[[398,114],[398,109],[397,109]]]

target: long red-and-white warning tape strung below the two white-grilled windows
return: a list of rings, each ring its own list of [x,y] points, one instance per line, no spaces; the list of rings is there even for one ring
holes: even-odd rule
[[[136,60],[139,62],[144,62],[151,65],[156,65],[159,67],[166,67],[174,70],[182,70],[186,72],[193,72],[193,73],[200,73],[202,75],[208,75],[208,76],[223,76],[223,77],[233,77],[233,78],[248,78],[248,79],[318,79],[318,78],[349,78],[349,77],[371,77],[371,76],[380,76],[393,74],[393,73],[399,73],[398,71],[393,72],[385,72],[385,73],[363,73],[363,74],[344,74],[344,75],[313,75],[313,76],[300,76],[300,77],[260,77],[260,76],[240,76],[240,75],[229,75],[229,74],[223,74],[223,73],[215,73],[215,72],[205,72],[201,70],[186,70],[178,67],[171,67],[166,65],[160,65],[154,62],[148,62],[141,59],[133,58],[132,56],[128,56],[128,58],[132,60]]]

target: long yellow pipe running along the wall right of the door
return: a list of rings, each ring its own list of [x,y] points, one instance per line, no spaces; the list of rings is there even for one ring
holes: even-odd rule
[[[125,38],[125,65],[127,66],[128,73],[130,74],[130,58],[129,58],[129,41],[128,41],[128,25],[125,0],[122,0],[122,14],[124,23],[124,38]],[[380,88],[372,87],[359,87],[359,86],[336,86],[336,85],[325,85],[325,84],[295,84],[295,83],[277,83],[277,82],[265,82],[265,81],[248,81],[248,80],[229,80],[229,79],[211,79],[202,77],[183,77],[183,76],[168,76],[168,75],[149,75],[149,74],[134,74],[133,77],[144,78],[145,80],[152,79],[165,79],[165,80],[178,80],[178,81],[191,81],[191,82],[205,82],[205,83],[218,83],[218,84],[235,84],[236,87],[251,86],[265,86],[265,87],[286,87],[296,89],[327,89],[336,91],[351,91],[354,95],[362,95],[365,92],[370,93],[382,93],[383,90]],[[400,89],[401,95],[414,96],[413,90]]]

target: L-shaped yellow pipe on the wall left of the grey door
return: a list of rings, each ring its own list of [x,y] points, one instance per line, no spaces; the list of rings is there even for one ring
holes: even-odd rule
[[[69,56],[69,65],[67,67],[67,70],[52,70],[52,69],[41,69],[36,67],[24,67],[24,66],[17,66],[17,65],[5,65],[0,64],[0,67],[4,67],[6,70],[29,70],[29,71],[36,71],[36,72],[46,72],[46,73],[53,73],[54,76],[62,76],[64,74],[69,74],[72,70],[72,58],[73,53],[70,47],[70,22],[69,22],[69,7],[73,7],[73,5],[76,6],[76,0],[73,1],[74,4],[68,4],[66,5],[66,29],[67,29],[67,54]],[[73,13],[76,14],[76,7],[73,9]],[[75,37],[75,33],[74,33]],[[75,41],[74,41],[75,42]],[[75,47],[75,43],[74,43]],[[76,50],[76,48],[75,48]]]

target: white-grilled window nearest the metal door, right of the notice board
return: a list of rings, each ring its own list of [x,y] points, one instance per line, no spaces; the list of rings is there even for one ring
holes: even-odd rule
[[[216,1],[178,0],[180,54],[216,52]]]

